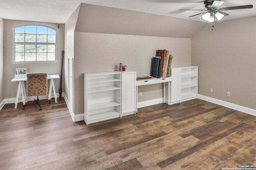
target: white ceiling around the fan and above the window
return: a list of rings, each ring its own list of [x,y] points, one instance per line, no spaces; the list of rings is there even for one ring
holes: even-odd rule
[[[252,9],[225,11],[229,15],[223,20],[256,16],[256,0],[223,0],[221,7],[252,4]],[[203,21],[201,11],[180,11],[180,9],[205,10],[204,0],[0,0],[0,17],[9,20],[65,23],[80,3],[108,6],[163,16]]]

